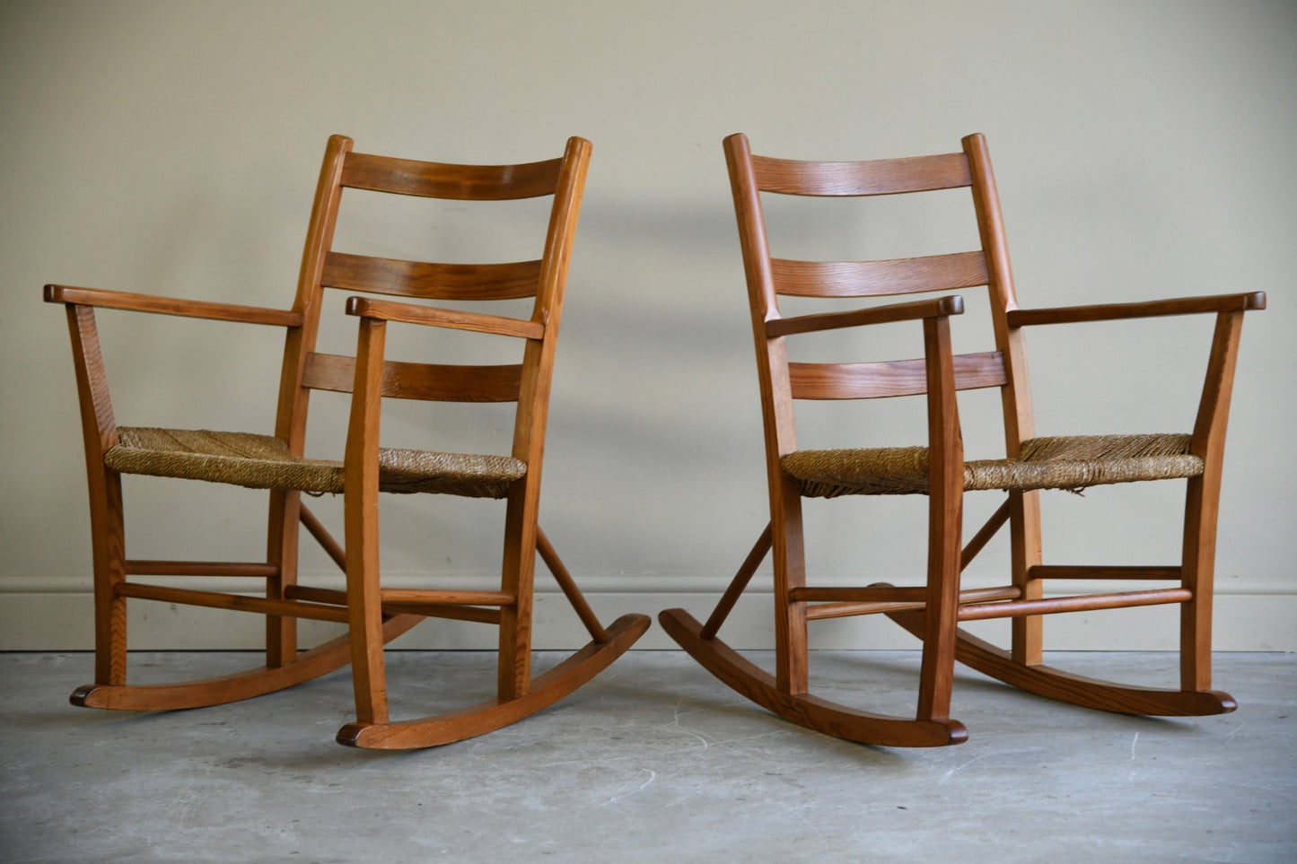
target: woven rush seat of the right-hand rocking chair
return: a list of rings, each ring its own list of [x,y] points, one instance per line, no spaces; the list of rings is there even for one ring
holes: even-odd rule
[[[779,463],[811,498],[927,493],[927,448],[798,450]],[[1082,435],[1029,438],[1017,459],[965,462],[964,488],[1084,489],[1200,474],[1188,435]]]

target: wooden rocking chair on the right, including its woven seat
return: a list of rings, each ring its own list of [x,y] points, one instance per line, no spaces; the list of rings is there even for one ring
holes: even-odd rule
[[[757,540],[706,624],[685,610],[659,620],[699,663],[779,716],[839,738],[926,747],[958,743],[949,717],[953,664],[960,660],[1018,688],[1106,711],[1209,715],[1233,711],[1211,686],[1211,577],[1226,419],[1243,313],[1263,309],[1263,293],[1153,302],[1019,310],[1009,272],[1000,204],[986,141],[964,139],[960,153],[866,162],[805,162],[754,156],[743,135],[725,140],[730,184],[747,272],[765,427],[770,524]],[[982,249],[868,262],[772,258],[760,193],[873,196],[969,187]],[[949,319],[958,296],[874,305],[851,311],[781,317],[778,296],[878,297],[987,285],[995,350],[952,355]],[[1153,315],[1210,313],[1215,333],[1197,422],[1184,435],[1035,437],[1025,327]],[[875,363],[789,362],[786,340],[842,327],[914,320],[923,358]],[[956,390],[1000,388],[1006,458],[964,459]],[[794,400],[856,400],[926,394],[927,445],[799,450]],[[1040,489],[1185,479],[1183,558],[1167,567],[1044,564]],[[961,550],[965,490],[1000,489],[1006,499]],[[927,494],[926,585],[813,586],[803,555],[802,497]],[[1012,576],[999,588],[960,589],[960,573],[1005,524]],[[761,560],[774,553],[776,675],[720,638],[725,621]],[[1074,597],[1045,597],[1051,580],[1166,580],[1170,586]],[[1127,585],[1130,582],[1127,581]],[[1179,689],[1124,686],[1043,664],[1041,616],[1180,605]],[[808,693],[807,623],[883,612],[922,640],[918,704],[913,717],[857,711]],[[1012,618],[1012,646],[1001,650],[958,628],[960,621]]]

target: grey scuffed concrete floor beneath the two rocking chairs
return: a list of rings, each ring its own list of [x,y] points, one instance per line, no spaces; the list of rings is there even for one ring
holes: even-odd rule
[[[243,660],[132,654],[140,680]],[[1174,680],[1165,654],[1051,660]],[[394,653],[397,711],[454,704],[445,686],[484,695],[490,664]],[[873,704],[898,712],[916,668],[913,653],[813,656],[826,695],[872,681]],[[961,669],[953,715],[970,739],[922,751],[789,725],[678,651],[632,651],[546,712],[405,754],[333,743],[345,671],[237,704],[118,714],[67,704],[89,669],[87,654],[0,655],[3,861],[1297,861],[1292,654],[1217,655],[1239,711],[1175,720]]]

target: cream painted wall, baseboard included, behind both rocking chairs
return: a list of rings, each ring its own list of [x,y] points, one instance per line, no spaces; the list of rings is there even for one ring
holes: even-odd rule
[[[74,381],[62,314],[39,301],[42,284],[285,305],[328,134],[354,136],[361,150],[485,162],[543,158],[584,135],[594,162],[543,524],[601,608],[703,612],[765,523],[721,138],[744,131],[757,152],[779,156],[868,158],[952,150],[982,131],[1025,306],[1268,292],[1239,365],[1217,643],[1294,650],[1297,472],[1281,454],[1297,428],[1294,84],[1297,6],[1285,0],[5,3],[0,647],[89,643]],[[507,221],[508,241],[530,237],[515,230],[525,215]],[[809,234],[800,211],[781,218]],[[843,210],[824,244],[873,228],[922,246],[938,227]],[[119,422],[270,429],[265,370],[279,344],[267,332],[100,320]],[[1040,431],[1188,428],[1209,335],[1196,319],[1034,333]],[[975,448],[994,405],[974,397],[965,407]],[[316,433],[341,416],[326,413]],[[419,427],[401,415],[392,428]],[[895,428],[864,433],[905,442],[888,437]],[[816,414],[803,437],[842,429]],[[314,442],[322,454],[332,446],[328,435]],[[1178,501],[1178,489],[1156,488],[1051,496],[1047,560],[1174,560]],[[335,524],[336,503],[322,505]],[[460,515],[436,501],[389,503],[393,580],[492,572],[494,505]],[[132,480],[127,506],[132,557],[245,558],[262,544],[257,493]],[[918,506],[898,515],[877,502],[811,502],[808,514],[825,581],[920,566]],[[1003,563],[992,549],[970,579],[994,579]],[[306,568],[328,572],[318,555]],[[569,619],[550,618],[553,599],[541,603],[550,646],[576,638]],[[243,645],[258,632],[256,619],[136,606],[139,646]],[[737,641],[768,645],[765,614],[760,597],[748,601]],[[1143,620],[1097,614],[1057,627],[1056,645],[1171,643],[1170,618]],[[822,645],[910,645],[882,624],[824,627]],[[482,636],[466,625],[420,638],[409,643]],[[668,642],[655,630],[642,645]]]

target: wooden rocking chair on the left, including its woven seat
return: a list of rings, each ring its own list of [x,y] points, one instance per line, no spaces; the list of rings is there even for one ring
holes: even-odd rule
[[[604,629],[537,525],[541,457],[572,240],[590,158],[590,143],[568,141],[563,157],[503,166],[442,165],[351,152],[328,141],[297,288],[288,310],[171,300],[89,288],[47,285],[64,304],[71,330],[89,479],[95,560],[95,684],[73,704],[96,708],[193,708],[279,690],[353,663],[357,721],[339,732],[346,745],[424,747],[490,732],[572,693],[624,653],[648,627],[625,615]],[[344,188],[451,200],[553,196],[538,261],[445,265],[333,250]],[[393,300],[351,297],[359,323],[357,355],[315,352],[324,288],[419,300],[534,297],[529,319],[445,310]],[[341,298],[339,298],[341,300]],[[287,332],[275,433],[119,427],[95,328],[95,307],[271,324]],[[384,359],[389,323],[449,327],[520,340],[520,363],[446,366]],[[303,457],[313,389],[350,392],[341,461]],[[451,402],[518,402],[508,455],[468,455],[379,448],[380,397]],[[141,560],[126,557],[123,474],[236,484],[270,490],[263,562]],[[301,493],[342,493],[345,551],[302,503]],[[415,590],[379,581],[379,493],[446,493],[506,499],[499,590]],[[298,524],[346,573],[346,590],[300,585]],[[537,553],[590,633],[590,642],[533,680],[532,595]],[[263,597],[131,581],[131,576],[236,576],[261,580]],[[126,603],[161,601],[266,615],[266,664],[243,673],[183,684],[132,685],[126,675]],[[339,621],[349,633],[300,651],[297,619]],[[425,618],[499,627],[498,697],[447,715],[393,723],[388,717],[385,642]]]

